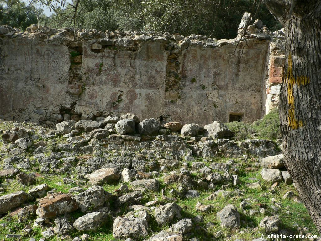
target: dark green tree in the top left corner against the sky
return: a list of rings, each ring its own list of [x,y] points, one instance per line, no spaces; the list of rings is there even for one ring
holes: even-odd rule
[[[0,25],[9,25],[25,30],[33,23],[38,23],[44,17],[43,10],[35,9],[31,5],[17,0],[0,0]]]

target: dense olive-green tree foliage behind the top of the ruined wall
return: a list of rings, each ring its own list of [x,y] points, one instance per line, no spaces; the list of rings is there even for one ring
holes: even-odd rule
[[[44,0],[32,0],[45,2]],[[55,1],[49,1],[49,5]],[[64,2],[64,1],[61,1]],[[73,2],[76,2],[75,0]],[[67,3],[67,2],[66,2]],[[243,13],[251,11],[252,0],[80,0],[76,10],[76,27],[98,31],[155,31],[203,34],[208,37],[235,38]],[[45,3],[44,3],[45,4]],[[75,5],[75,4],[74,4]],[[56,8],[49,26],[73,26],[73,7]],[[69,15],[70,14],[70,15]],[[261,4],[256,19],[271,30],[281,27]]]

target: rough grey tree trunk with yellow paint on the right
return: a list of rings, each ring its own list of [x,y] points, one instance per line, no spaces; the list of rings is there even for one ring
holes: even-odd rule
[[[285,166],[321,232],[321,1],[263,3],[285,29],[280,94]]]

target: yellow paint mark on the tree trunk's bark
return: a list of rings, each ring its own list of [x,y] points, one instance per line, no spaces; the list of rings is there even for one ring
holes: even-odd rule
[[[293,76],[291,55],[289,55],[288,59],[288,70],[285,75],[285,83],[288,87],[287,98],[290,106],[288,111],[288,124],[291,129],[298,129],[303,126],[303,122],[298,121],[295,117],[293,88],[294,86],[308,85],[310,83],[310,78],[307,76],[298,76],[297,79],[295,79]]]

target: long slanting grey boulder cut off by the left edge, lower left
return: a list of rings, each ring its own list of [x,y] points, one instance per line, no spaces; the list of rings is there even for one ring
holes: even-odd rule
[[[23,202],[32,200],[33,198],[23,192],[13,192],[0,197],[0,214],[6,214],[8,211],[19,207]]]

